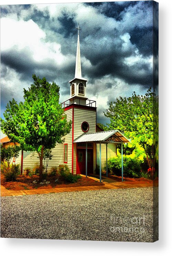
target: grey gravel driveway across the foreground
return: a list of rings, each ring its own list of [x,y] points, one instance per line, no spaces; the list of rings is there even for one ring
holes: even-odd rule
[[[152,188],[2,197],[1,237],[152,242],[152,199]]]

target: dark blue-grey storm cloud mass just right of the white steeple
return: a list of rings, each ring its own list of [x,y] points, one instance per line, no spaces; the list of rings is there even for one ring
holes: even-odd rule
[[[84,51],[85,56],[94,65],[94,68],[86,69],[90,79],[96,79],[104,75],[114,75],[121,77],[127,83],[136,83],[149,86],[152,82],[152,70],[150,70],[149,63],[139,63],[128,66],[125,64],[125,58],[132,56],[135,47],[129,48],[127,51],[122,52],[122,40],[119,44],[114,44],[111,40],[107,40],[107,44],[100,43],[100,47],[95,46],[95,51],[92,46],[94,54],[89,51]],[[96,43],[96,45],[99,45]],[[88,46],[89,47],[89,46]],[[88,50],[86,46],[86,49]]]

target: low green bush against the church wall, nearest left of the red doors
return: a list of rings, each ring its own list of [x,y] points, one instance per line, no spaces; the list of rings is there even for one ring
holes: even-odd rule
[[[73,175],[66,164],[58,166],[58,173],[66,182],[69,183],[75,183],[78,179],[81,179],[80,175]]]

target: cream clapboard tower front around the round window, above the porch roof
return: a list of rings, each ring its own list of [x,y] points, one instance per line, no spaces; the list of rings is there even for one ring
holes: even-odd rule
[[[81,129],[83,121],[88,122],[88,133],[96,132],[96,110],[74,108],[74,139],[84,134]]]

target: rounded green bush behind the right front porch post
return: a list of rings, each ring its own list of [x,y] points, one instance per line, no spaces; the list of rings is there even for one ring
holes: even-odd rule
[[[126,177],[140,177],[142,161],[138,158],[123,156],[123,175]],[[121,155],[108,159],[108,171],[121,176]]]

